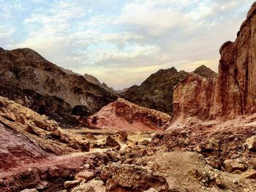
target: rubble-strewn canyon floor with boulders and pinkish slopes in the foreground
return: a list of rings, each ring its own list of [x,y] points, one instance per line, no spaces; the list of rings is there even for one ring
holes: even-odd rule
[[[0,191],[256,191],[256,115],[167,131],[61,128],[0,101]]]

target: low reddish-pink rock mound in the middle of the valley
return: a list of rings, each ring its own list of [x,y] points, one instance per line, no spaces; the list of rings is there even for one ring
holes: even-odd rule
[[[165,128],[168,120],[170,116],[163,112],[149,110],[119,98],[86,118],[86,125],[92,128],[157,130]]]

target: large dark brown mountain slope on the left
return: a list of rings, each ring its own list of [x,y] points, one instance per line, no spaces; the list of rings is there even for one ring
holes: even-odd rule
[[[29,48],[0,50],[0,95],[63,123],[90,115],[116,100],[82,76],[64,72]]]

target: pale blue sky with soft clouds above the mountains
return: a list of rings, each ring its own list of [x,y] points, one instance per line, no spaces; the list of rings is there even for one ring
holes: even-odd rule
[[[250,0],[0,0],[0,47],[29,47],[115,89],[159,69],[217,72]]]

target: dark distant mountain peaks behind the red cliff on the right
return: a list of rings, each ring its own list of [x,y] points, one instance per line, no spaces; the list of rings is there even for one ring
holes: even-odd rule
[[[194,73],[202,77],[216,77],[216,73],[206,66],[200,66]],[[151,74],[140,86],[133,85],[127,91],[119,93],[121,97],[132,101],[140,106],[154,110],[166,112],[169,115],[173,113],[173,88],[187,77],[187,72],[178,72],[174,67],[170,69],[161,69]]]

